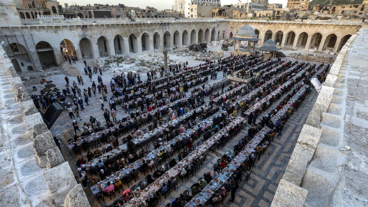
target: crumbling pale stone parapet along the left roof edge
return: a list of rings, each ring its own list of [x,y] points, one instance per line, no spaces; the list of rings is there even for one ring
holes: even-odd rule
[[[7,148],[9,160],[15,166],[20,165],[19,169],[15,167],[15,173],[18,174],[18,183],[25,193],[24,200],[28,200],[31,206],[40,206],[41,203],[46,206],[64,206],[67,194],[77,186],[77,182],[68,162],[64,161],[51,132],[15,72],[13,64],[1,47],[0,54],[1,77],[5,77],[1,80],[0,94],[1,102],[4,104],[2,110],[7,114],[1,121],[1,133],[8,137],[8,141],[2,144]],[[86,199],[83,191],[77,193],[78,197]],[[78,207],[87,206],[88,202],[78,205]]]

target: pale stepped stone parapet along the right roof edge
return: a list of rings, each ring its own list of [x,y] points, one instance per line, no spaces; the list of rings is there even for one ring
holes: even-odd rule
[[[342,146],[344,113],[344,59],[361,30],[346,42],[332,65],[318,98],[298,137],[271,207],[330,206],[338,182],[337,152]],[[287,197],[288,199],[285,199]]]

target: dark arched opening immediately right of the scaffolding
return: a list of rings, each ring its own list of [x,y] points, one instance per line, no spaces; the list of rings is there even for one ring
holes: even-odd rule
[[[39,56],[42,67],[49,67],[56,64],[54,49],[50,43],[40,41],[36,44],[36,51]]]

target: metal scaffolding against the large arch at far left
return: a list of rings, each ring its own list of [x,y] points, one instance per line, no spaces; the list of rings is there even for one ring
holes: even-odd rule
[[[24,42],[19,42],[18,39],[21,39]],[[19,47],[19,45],[24,45],[24,47],[27,50],[29,59],[32,62],[33,69],[35,71],[42,70],[42,65],[40,63],[40,57],[38,56],[35,41],[33,40],[32,34],[0,35],[0,42],[4,42],[1,45],[3,46],[3,49],[4,51],[6,51],[7,55],[9,57],[14,57],[15,59],[17,59],[17,57],[15,56],[14,52],[21,51],[21,48]],[[8,53],[8,50],[7,50],[8,47],[11,49],[11,53]],[[23,53],[21,53],[21,55],[23,56]]]

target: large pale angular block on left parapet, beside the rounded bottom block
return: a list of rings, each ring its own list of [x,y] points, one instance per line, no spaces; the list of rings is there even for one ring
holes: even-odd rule
[[[77,181],[68,162],[48,169],[42,175],[54,198],[56,206],[63,206],[65,197],[77,185]]]

